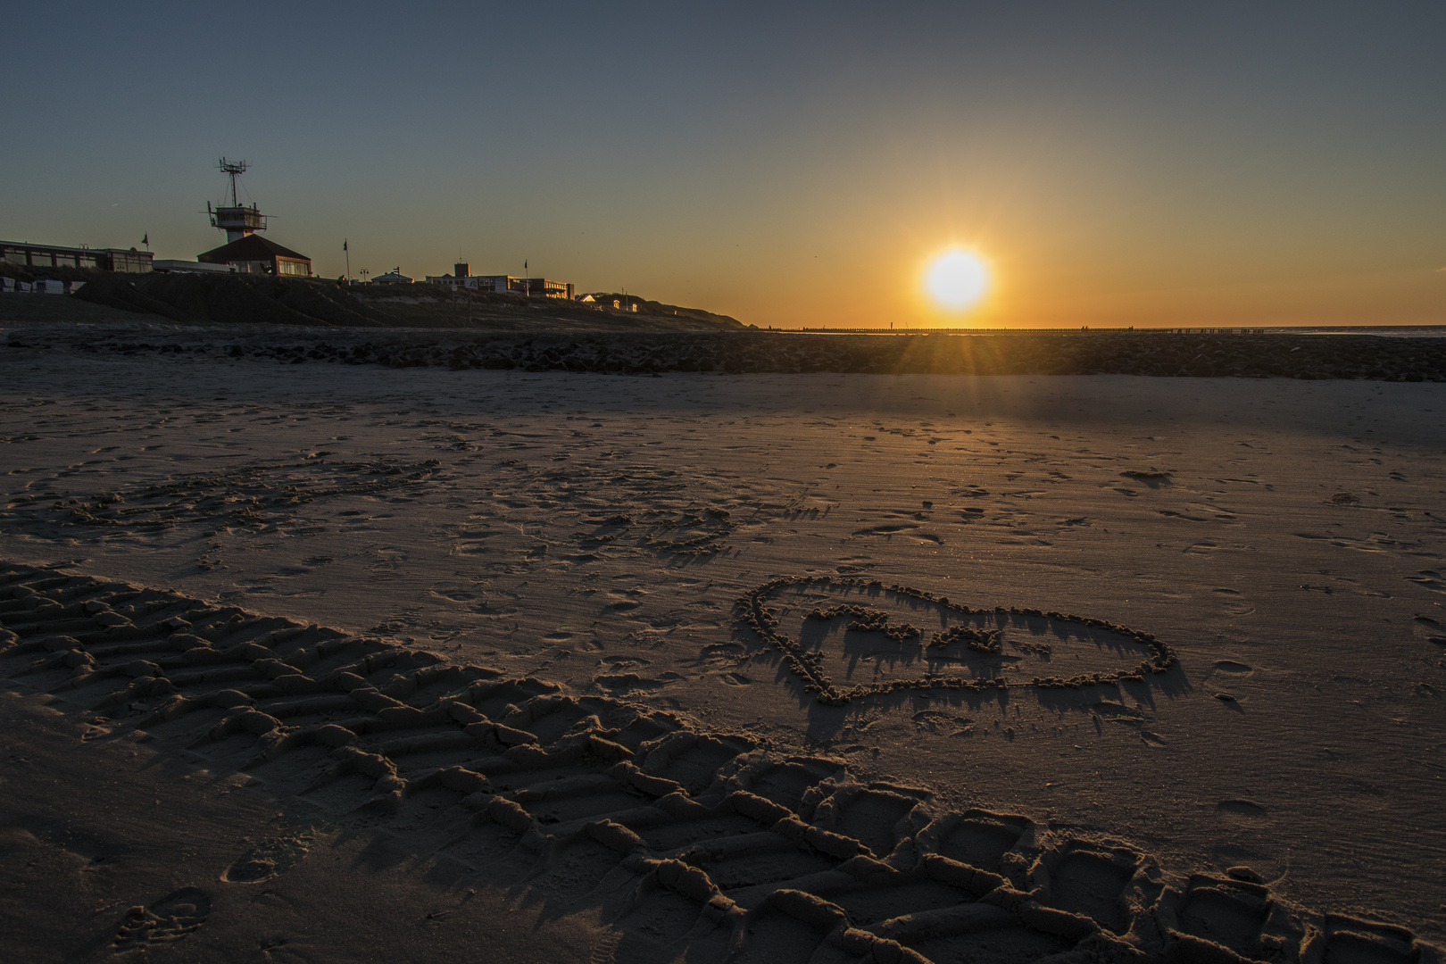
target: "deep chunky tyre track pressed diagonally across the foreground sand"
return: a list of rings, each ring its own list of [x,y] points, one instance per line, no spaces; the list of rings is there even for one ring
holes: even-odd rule
[[[7,564],[0,624],[10,685],[56,695],[84,740],[244,773],[544,919],[591,912],[606,960],[1440,960],[1244,869],[1171,874],[1119,841],[860,782],[842,759],[315,624]],[[304,848],[253,847],[72,939],[228,954],[208,939],[213,895],[262,892]]]

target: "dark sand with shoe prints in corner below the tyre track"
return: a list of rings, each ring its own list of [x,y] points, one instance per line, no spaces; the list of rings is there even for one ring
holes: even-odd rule
[[[6,960],[591,960],[591,921],[539,921],[453,860],[244,775],[90,739],[46,702],[0,695]],[[117,932],[137,921],[159,926]]]

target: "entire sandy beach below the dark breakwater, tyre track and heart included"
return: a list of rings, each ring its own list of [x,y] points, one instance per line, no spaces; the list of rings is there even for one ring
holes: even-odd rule
[[[0,944],[1440,960],[1443,412],[12,347]]]

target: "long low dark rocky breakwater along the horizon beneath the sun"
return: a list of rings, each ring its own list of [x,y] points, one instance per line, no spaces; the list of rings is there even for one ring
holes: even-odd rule
[[[370,332],[369,332],[370,334]],[[1446,338],[1319,334],[1080,332],[1050,335],[852,335],[794,332],[405,337],[363,332],[194,331],[161,341],[78,344],[82,351],[202,353],[304,364],[499,369],[602,374],[1141,374],[1157,377],[1446,380]],[[26,345],[42,347],[42,345]]]

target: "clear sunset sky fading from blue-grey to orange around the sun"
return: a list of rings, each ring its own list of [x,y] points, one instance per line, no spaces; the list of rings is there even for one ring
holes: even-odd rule
[[[759,327],[1446,324],[1440,0],[0,3],[0,238]],[[976,253],[944,311],[931,259]]]

